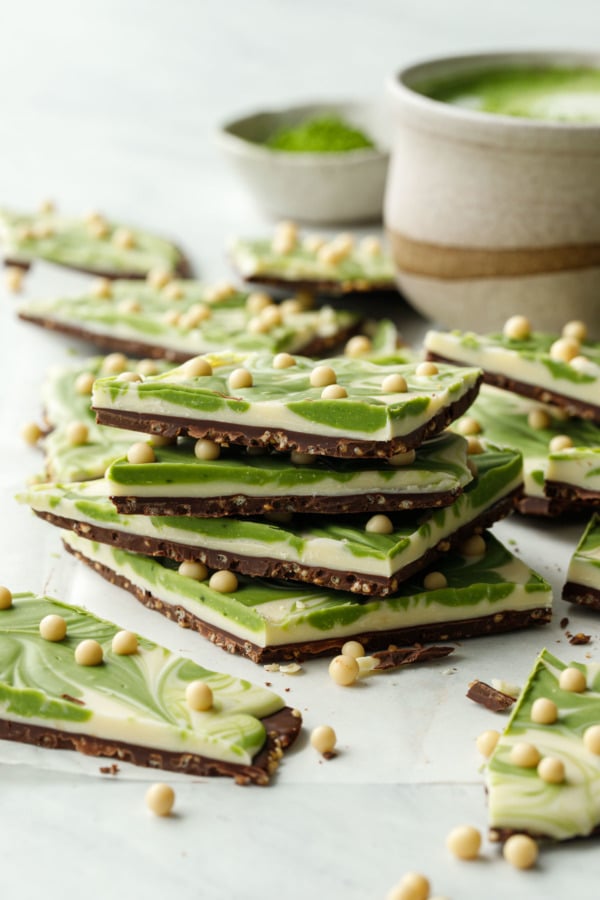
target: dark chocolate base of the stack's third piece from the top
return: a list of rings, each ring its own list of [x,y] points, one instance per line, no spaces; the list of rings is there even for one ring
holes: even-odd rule
[[[234,555],[222,550],[208,550],[162,538],[129,534],[116,528],[102,528],[87,522],[78,522],[75,519],[57,516],[50,512],[39,510],[35,510],[35,512],[40,518],[46,519],[59,528],[66,528],[91,541],[110,544],[132,553],[142,553],[145,556],[165,556],[176,562],[195,560],[204,563],[210,569],[230,569],[232,572],[240,572],[254,578],[276,578],[284,581],[299,581],[303,584],[315,584],[333,590],[350,591],[368,600],[371,597],[389,597],[396,593],[403,581],[439,559],[443,553],[456,547],[470,535],[483,531],[498,519],[507,516],[513,510],[516,494],[517,492],[513,492],[499,500],[475,520],[466,523],[453,534],[440,540],[436,547],[427,550],[420,559],[390,577],[364,575],[360,572],[342,572],[339,569],[328,569],[325,566],[317,568],[289,560],[270,559],[266,556]]]

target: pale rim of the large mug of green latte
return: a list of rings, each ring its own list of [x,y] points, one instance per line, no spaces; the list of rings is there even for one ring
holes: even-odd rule
[[[456,106],[444,100],[436,100],[422,94],[411,84],[413,79],[423,75],[435,76],[439,69],[452,68],[465,72],[475,71],[486,65],[498,68],[504,65],[533,64],[541,66],[559,66],[566,64],[586,65],[600,71],[600,51],[582,49],[509,49],[490,50],[475,53],[450,54],[447,56],[427,57],[417,62],[402,66],[388,76],[387,89],[393,97],[401,98],[413,109],[429,111],[432,115],[444,116],[457,122],[485,123],[486,127],[498,127],[529,132],[576,132],[580,134],[600,134],[600,122],[574,122],[552,119],[534,119],[526,116],[510,116],[503,113],[491,113],[482,110]],[[446,74],[450,74],[446,72]]]

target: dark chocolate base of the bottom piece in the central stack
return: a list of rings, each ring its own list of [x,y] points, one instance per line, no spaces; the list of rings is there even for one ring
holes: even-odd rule
[[[313,659],[319,656],[331,656],[338,653],[342,646],[349,639],[348,635],[344,637],[328,637],[317,641],[300,641],[296,644],[281,644],[272,647],[260,647],[251,641],[236,637],[230,632],[223,631],[214,625],[209,625],[202,619],[190,613],[182,606],[175,606],[166,603],[155,597],[149,591],[145,591],[137,585],[132,584],[128,578],[119,575],[117,572],[104,566],[101,563],[88,559],[84,554],[77,550],[73,550],[68,544],[66,549],[77,559],[86,563],[94,569],[99,575],[116,584],[119,587],[129,591],[130,594],[143,603],[148,609],[153,609],[161,613],[167,619],[177,622],[182,628],[190,628],[193,631],[208,638],[217,647],[226,650],[228,653],[238,653],[248,657],[256,663],[266,663],[284,660]],[[515,631],[519,628],[527,628],[532,625],[545,625],[550,621],[552,612],[545,607],[536,607],[530,610],[507,610],[505,612],[495,613],[490,616],[482,616],[477,619],[461,619],[457,622],[440,622],[426,625],[416,625],[410,628],[390,629],[386,632],[365,631],[356,635],[352,635],[353,640],[360,641],[366,651],[383,649],[386,650],[390,643],[395,644],[427,644],[432,641],[456,641],[463,638],[481,637],[489,634],[501,634],[507,631]],[[414,650],[414,648],[412,648]],[[402,652],[402,651],[401,651]],[[439,652],[425,655],[424,661],[433,657],[439,658]],[[444,654],[446,655],[446,654]],[[416,658],[415,658],[416,656]],[[406,653],[402,652],[404,664],[406,664]],[[420,654],[413,654],[409,658],[410,661],[418,661]],[[394,668],[401,665],[396,661]],[[379,667],[378,667],[379,668]],[[381,668],[386,668],[385,664]]]

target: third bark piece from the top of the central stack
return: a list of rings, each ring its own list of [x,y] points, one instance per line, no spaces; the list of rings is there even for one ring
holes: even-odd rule
[[[391,532],[369,516],[292,518],[150,517],[119,514],[105,481],[34,485],[20,499],[42,518],[104,543],[181,561],[200,560],[254,577],[284,578],[388,596],[452,546],[512,511],[521,490],[521,458],[488,447],[477,477],[450,506],[390,516]],[[387,524],[387,523],[386,523]]]

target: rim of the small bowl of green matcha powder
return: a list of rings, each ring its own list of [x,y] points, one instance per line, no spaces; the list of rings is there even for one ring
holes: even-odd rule
[[[245,113],[244,115],[238,115],[219,123],[216,132],[217,141],[224,149],[231,150],[237,155],[244,155],[248,158],[254,158],[257,160],[276,160],[277,163],[285,162],[287,164],[290,164],[291,166],[298,168],[304,168],[308,166],[314,167],[315,163],[319,163],[323,167],[327,168],[331,166],[339,166],[340,163],[351,166],[362,165],[369,162],[387,162],[390,155],[389,146],[381,147],[377,145],[375,147],[363,147],[355,150],[341,150],[337,152],[291,152],[289,150],[277,150],[273,147],[267,147],[265,144],[260,144],[258,142],[241,137],[234,131],[235,128],[238,128],[240,125],[245,124],[251,119],[255,119],[257,116],[277,117],[285,115],[287,113],[302,113],[302,111],[304,110],[309,112],[310,110],[318,110],[319,108],[322,108],[324,110],[335,108],[339,110],[343,110],[344,108],[376,109],[377,102],[351,99],[338,99],[328,101],[320,98],[315,101],[304,101],[302,103],[294,103],[289,106],[259,108],[255,109],[252,112]]]

